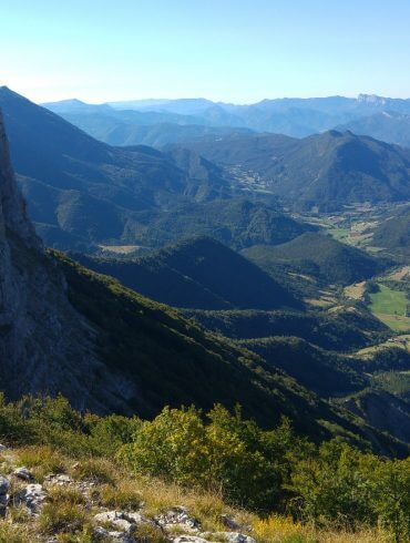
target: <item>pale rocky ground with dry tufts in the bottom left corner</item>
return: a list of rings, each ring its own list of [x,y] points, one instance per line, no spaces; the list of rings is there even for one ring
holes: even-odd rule
[[[44,465],[41,461],[31,471],[21,464],[21,455],[12,449],[0,445],[2,462],[0,469],[0,514],[12,533],[12,526],[24,526],[21,532],[22,540],[2,539],[4,541],[39,541],[59,543],[61,541],[78,542],[123,542],[123,543],[256,543],[252,536],[252,527],[242,524],[228,513],[219,514],[217,525],[221,531],[208,531],[201,520],[191,513],[183,504],[175,504],[153,512],[146,508],[144,501],[136,505],[135,495],[130,493],[130,505],[122,496],[121,509],[104,506],[101,500],[101,472],[81,474],[75,478],[80,467],[73,462],[70,467],[72,474],[44,473],[47,455],[44,450]],[[35,451],[35,449],[34,449]],[[34,455],[29,453],[29,459]],[[22,457],[27,455],[25,451]],[[39,469],[41,468],[41,469]],[[41,482],[37,473],[41,473]],[[74,475],[73,475],[74,474]],[[104,486],[104,485],[103,485]],[[106,486],[106,485],[105,485]],[[115,486],[112,489],[115,491]],[[121,493],[122,491],[119,490]],[[115,498],[113,500],[115,502]],[[78,518],[75,518],[75,515]],[[84,520],[86,519],[86,522]],[[75,539],[68,539],[68,533],[76,533],[75,525],[82,529],[82,534]],[[19,533],[17,530],[16,533]],[[83,537],[83,539],[81,539]]]

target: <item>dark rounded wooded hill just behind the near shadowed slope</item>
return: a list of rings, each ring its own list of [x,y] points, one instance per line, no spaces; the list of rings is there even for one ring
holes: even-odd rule
[[[187,239],[134,260],[89,258],[84,266],[111,275],[157,301],[192,309],[298,307],[265,272],[206,237]]]

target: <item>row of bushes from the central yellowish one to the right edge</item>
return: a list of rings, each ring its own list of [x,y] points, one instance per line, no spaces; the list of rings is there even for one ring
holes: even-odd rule
[[[164,409],[121,451],[132,469],[194,488],[217,489],[253,510],[288,511],[301,522],[358,530],[379,525],[410,536],[410,460],[387,460],[332,440],[318,449],[285,419],[260,430],[216,406]]]

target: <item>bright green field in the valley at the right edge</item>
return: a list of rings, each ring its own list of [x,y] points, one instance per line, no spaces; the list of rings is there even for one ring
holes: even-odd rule
[[[406,293],[379,285],[380,290],[370,295],[370,310],[396,331],[410,330],[410,317],[406,316],[409,300]]]

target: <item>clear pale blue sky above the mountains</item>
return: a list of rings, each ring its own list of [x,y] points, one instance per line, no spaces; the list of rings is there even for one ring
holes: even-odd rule
[[[0,85],[35,102],[410,98],[410,0],[0,0]]]

